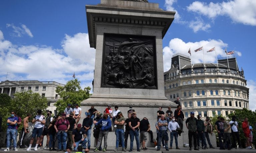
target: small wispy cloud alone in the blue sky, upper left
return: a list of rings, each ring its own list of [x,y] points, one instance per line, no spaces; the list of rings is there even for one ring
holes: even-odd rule
[[[22,37],[22,35],[27,34],[29,37],[33,37],[31,31],[27,28],[26,25],[22,24],[21,27],[17,27],[14,24],[6,24],[6,27],[11,27],[13,29],[13,33],[11,34],[14,37]]]

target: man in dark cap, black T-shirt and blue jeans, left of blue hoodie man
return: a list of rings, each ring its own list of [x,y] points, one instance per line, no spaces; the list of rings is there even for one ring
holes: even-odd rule
[[[83,128],[84,128],[84,130],[85,130],[85,132],[86,132],[86,135],[87,135],[87,139],[88,139],[88,149],[90,149],[91,148],[91,130],[92,130],[92,124],[93,124],[93,119],[91,118],[91,113],[90,112],[88,112],[87,113],[87,117],[86,118],[84,118],[84,120],[83,120]],[[86,148],[86,144],[85,144],[85,147],[84,148]]]

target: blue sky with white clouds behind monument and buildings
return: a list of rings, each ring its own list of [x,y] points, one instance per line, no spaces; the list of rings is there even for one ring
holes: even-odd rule
[[[176,53],[192,63],[216,63],[235,51],[249,89],[249,107],[256,109],[256,1],[252,0],[148,0],[175,19],[163,38],[164,72]],[[85,5],[100,0],[1,0],[0,81],[39,80],[65,84],[75,77],[82,88],[92,87],[95,49],[90,48]],[[194,52],[203,46],[202,51]]]

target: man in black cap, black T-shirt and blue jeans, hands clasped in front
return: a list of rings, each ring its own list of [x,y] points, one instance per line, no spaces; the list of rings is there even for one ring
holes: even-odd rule
[[[130,127],[130,150],[133,149],[133,140],[135,136],[137,151],[140,151],[140,141],[139,141],[139,126],[140,126],[140,119],[136,117],[136,112],[132,113],[132,117],[129,120],[129,127]]]

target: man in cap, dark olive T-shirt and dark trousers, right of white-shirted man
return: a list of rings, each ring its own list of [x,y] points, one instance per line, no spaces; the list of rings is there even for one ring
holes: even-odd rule
[[[188,142],[189,142],[189,150],[192,150],[192,136],[194,139],[194,150],[199,150],[197,148],[197,120],[195,118],[195,113],[191,112],[190,117],[186,120],[186,127],[188,129]]]

